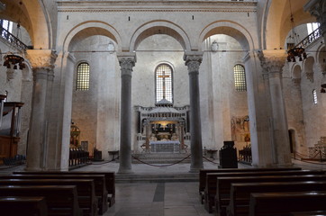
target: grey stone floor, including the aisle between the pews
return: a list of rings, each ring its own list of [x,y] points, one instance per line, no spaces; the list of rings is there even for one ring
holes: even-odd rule
[[[217,163],[218,161],[214,161]],[[326,170],[326,163],[314,164],[294,160],[294,166],[303,169]],[[216,168],[217,164],[204,161],[204,168]],[[239,167],[249,167],[239,164]],[[80,167],[77,170],[114,171],[117,172],[118,163],[94,163],[89,166]],[[9,169],[0,169],[0,175],[23,170],[23,166]],[[188,174],[189,164],[177,164],[174,166],[148,166],[133,164],[134,175],[164,175],[164,174]],[[118,177],[119,174],[117,174]],[[117,183],[116,203],[104,216],[208,216],[204,205],[199,202],[198,182],[137,182]]]

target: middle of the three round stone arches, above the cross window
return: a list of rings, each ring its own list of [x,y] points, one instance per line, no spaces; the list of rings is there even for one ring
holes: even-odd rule
[[[186,32],[176,24],[168,21],[152,21],[141,25],[131,37],[129,50],[136,50],[142,40],[155,34],[167,34],[179,41],[183,49],[191,50],[190,41]]]

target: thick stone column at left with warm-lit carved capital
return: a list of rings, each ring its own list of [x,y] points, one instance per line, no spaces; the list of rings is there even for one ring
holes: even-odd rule
[[[47,121],[50,101],[48,85],[53,80],[54,61],[57,55],[52,50],[27,50],[33,72],[32,112],[27,149],[26,170],[41,170],[46,166]]]

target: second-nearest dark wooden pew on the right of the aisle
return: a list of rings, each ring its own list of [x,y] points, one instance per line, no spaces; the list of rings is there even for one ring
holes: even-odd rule
[[[309,191],[326,191],[326,181],[233,183],[231,184],[230,204],[227,208],[227,215],[248,215],[250,193]]]

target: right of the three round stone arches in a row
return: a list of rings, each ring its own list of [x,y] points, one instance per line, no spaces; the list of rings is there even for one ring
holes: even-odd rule
[[[204,28],[198,39],[198,47],[201,47],[201,43],[208,37],[214,34],[226,34],[231,36],[235,40],[238,40],[240,46],[244,50],[254,49],[254,41],[249,33],[243,26],[231,21],[218,21],[211,23]]]

